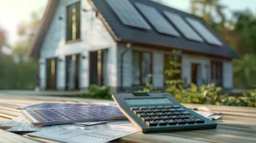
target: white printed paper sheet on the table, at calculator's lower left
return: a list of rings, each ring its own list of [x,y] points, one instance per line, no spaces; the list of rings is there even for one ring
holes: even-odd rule
[[[90,143],[103,143],[138,132],[138,128],[135,128],[135,126],[129,121],[116,121],[102,125],[105,125],[105,128],[96,130],[67,130],[58,132],[37,131],[27,135],[52,139],[59,142],[83,143],[86,141]]]

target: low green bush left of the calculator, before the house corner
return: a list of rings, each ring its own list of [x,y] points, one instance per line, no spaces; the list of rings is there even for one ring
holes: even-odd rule
[[[98,85],[90,85],[89,93],[81,94],[79,97],[111,99],[110,87],[106,85],[102,87],[99,87]]]

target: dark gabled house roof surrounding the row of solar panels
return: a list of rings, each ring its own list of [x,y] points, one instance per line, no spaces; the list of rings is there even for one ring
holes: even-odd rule
[[[99,18],[108,28],[108,31],[113,36],[116,42],[129,42],[134,45],[147,45],[154,48],[161,49],[177,49],[183,50],[189,53],[197,53],[203,55],[215,55],[222,58],[239,58],[239,56],[233,51],[233,49],[223,42],[217,33],[208,26],[208,24],[202,19],[194,15],[189,15],[186,12],[181,12],[180,10],[173,9],[171,7],[166,7],[162,4],[158,4],[150,0],[128,0],[131,4],[135,6],[135,3],[145,4],[150,7],[156,8],[159,12],[173,12],[180,15],[182,18],[193,18],[195,20],[203,23],[203,26],[208,28],[211,34],[219,39],[223,43],[222,46],[209,45],[206,42],[195,42],[186,39],[184,36],[170,36],[167,34],[160,34],[154,28],[150,30],[141,30],[139,28],[134,28],[131,26],[125,26],[118,19],[116,13],[110,7],[107,2],[108,0],[89,0],[89,3],[94,7],[97,12],[99,12]],[[121,1],[121,0],[118,0]],[[48,7],[45,10],[45,14],[42,18],[42,26],[32,42],[29,54],[39,57],[39,52],[42,46],[42,42],[45,39],[47,29],[50,26],[50,21],[56,12],[56,8],[59,4],[59,0],[49,0]],[[178,31],[178,30],[177,30]]]

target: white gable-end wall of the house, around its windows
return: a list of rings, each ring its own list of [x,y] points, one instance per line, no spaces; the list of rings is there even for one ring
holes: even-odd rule
[[[59,6],[56,9],[56,13],[53,20],[48,28],[48,32],[45,36],[45,40],[42,43],[42,50],[40,51],[40,60],[45,61],[48,58],[62,58],[63,61],[58,63],[57,72],[57,89],[65,88],[65,56],[80,54],[84,55],[85,58],[80,58],[80,88],[89,87],[89,52],[94,50],[109,49],[113,53],[109,53],[107,69],[108,77],[113,76],[116,78],[116,42],[105,28],[99,18],[96,17],[96,12],[92,9],[87,0],[81,0],[81,15],[80,15],[80,41],[78,42],[66,42],[66,7],[70,4],[74,4],[79,0],[61,0]],[[86,9],[84,12],[82,9]],[[60,20],[61,17],[61,20]],[[46,64],[46,63],[45,63]],[[46,74],[45,65],[40,64],[40,79],[41,88],[46,87]],[[105,75],[106,76],[106,75]],[[107,78],[107,77],[104,77]],[[116,81],[111,78],[108,85],[115,85]]]

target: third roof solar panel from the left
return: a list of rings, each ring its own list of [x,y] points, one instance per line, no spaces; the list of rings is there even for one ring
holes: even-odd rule
[[[181,31],[187,39],[203,42],[203,39],[186,23],[186,21],[173,12],[164,12],[165,16]]]

